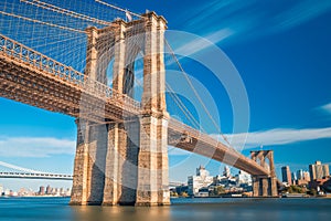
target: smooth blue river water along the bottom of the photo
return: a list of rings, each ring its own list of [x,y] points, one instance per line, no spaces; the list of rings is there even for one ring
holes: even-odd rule
[[[68,198],[0,198],[0,220],[331,220],[331,199],[172,199],[170,207],[71,207]]]

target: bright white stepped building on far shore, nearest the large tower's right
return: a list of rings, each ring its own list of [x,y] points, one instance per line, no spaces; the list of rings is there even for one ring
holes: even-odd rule
[[[188,178],[188,192],[190,196],[199,194],[201,188],[209,187],[211,183],[213,183],[213,177],[204,167],[200,166],[196,169],[196,176]]]

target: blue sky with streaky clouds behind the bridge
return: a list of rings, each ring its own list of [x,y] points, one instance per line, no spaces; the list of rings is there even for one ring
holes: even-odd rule
[[[263,145],[264,149],[275,150],[278,168],[289,165],[292,170],[308,170],[316,160],[331,162],[330,1],[117,3],[135,12],[154,10],[164,15],[170,30],[204,36],[224,51],[239,72],[249,99],[249,134],[243,154]],[[182,46],[188,49],[190,43],[182,42]],[[211,84],[213,77],[203,67],[190,61],[183,61],[183,67],[217,102],[222,130],[241,136],[232,135],[233,113],[224,88]],[[76,138],[73,118],[4,98],[0,98],[0,161],[72,173]],[[184,181],[200,164],[206,165],[212,175],[224,167],[200,156],[173,151],[170,179]],[[0,183],[34,189],[40,183],[70,186],[44,180]]]

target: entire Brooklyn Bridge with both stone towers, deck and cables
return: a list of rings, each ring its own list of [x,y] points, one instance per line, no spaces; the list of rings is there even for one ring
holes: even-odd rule
[[[253,177],[255,197],[276,197],[271,150],[252,151],[247,158],[231,144],[168,113],[164,51],[172,50],[164,38],[167,20],[156,12],[139,14],[104,1],[96,3],[116,13],[114,20],[94,18],[50,1],[0,3],[1,23],[11,23],[0,33],[1,96],[76,119],[71,204],[169,204],[168,146],[247,171]],[[49,15],[39,17],[36,11]],[[81,23],[67,22],[72,20]],[[23,25],[28,31],[22,31]],[[71,36],[84,35],[84,61],[72,57],[79,51],[66,54],[61,49],[57,53],[64,55],[54,55],[56,46],[42,36],[54,30],[65,33],[54,44],[81,44]],[[175,54],[170,55],[182,69]],[[143,63],[141,101],[134,96],[135,82],[139,82],[135,73],[137,57]],[[72,63],[66,63],[70,60]],[[111,77],[107,75],[109,66]],[[190,112],[177,101],[190,117]]]

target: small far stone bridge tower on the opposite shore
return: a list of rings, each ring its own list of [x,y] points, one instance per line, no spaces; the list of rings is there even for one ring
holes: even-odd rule
[[[252,176],[254,197],[277,197],[277,177],[273,150],[250,151],[250,158],[269,171],[268,176]]]

